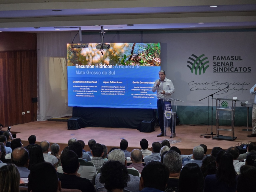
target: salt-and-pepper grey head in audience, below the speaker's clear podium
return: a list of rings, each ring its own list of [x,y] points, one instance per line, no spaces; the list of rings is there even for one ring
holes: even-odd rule
[[[180,173],[182,168],[182,159],[176,151],[168,151],[164,155],[164,164],[169,169],[170,174]]]

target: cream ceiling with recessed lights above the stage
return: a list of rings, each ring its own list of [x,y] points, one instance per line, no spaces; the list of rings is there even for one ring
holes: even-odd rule
[[[217,7],[210,7],[213,5]],[[200,22],[204,24],[198,24]],[[256,28],[256,1],[1,0],[0,2],[0,31],[30,33],[74,31],[77,28],[70,27],[79,26],[84,31],[100,30],[100,26],[109,30]]]

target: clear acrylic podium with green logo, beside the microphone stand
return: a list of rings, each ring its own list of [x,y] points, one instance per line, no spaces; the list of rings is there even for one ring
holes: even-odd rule
[[[239,100],[223,99],[223,98],[213,98],[213,99],[216,100],[216,136],[214,136],[213,139],[234,141],[237,138],[234,135],[236,101],[239,101]],[[231,106],[228,106],[229,103],[231,104]],[[219,120],[220,119],[221,120],[230,120],[231,121],[231,129],[219,128]],[[231,136],[219,135],[219,131],[231,131]]]

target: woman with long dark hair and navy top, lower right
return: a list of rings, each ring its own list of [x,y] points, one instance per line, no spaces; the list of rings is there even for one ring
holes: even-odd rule
[[[235,192],[237,173],[233,166],[233,157],[222,150],[216,158],[217,173],[205,177],[204,192]]]

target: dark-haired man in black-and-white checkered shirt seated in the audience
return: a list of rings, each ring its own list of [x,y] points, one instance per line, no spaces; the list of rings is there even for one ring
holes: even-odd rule
[[[106,160],[103,160],[102,156],[104,154],[104,148],[100,143],[95,143],[92,146],[92,160],[89,161],[91,163],[93,163],[93,165],[96,168],[96,171],[99,170],[100,167],[102,167],[102,165],[106,162]]]

